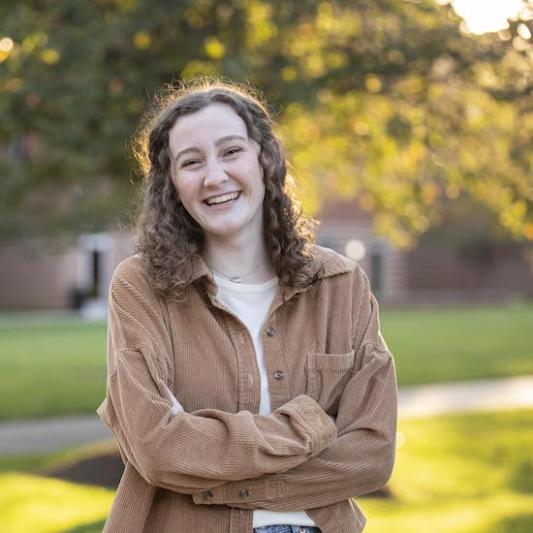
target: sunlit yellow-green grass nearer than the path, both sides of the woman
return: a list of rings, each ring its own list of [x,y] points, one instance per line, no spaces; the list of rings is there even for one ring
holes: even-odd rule
[[[532,531],[533,410],[401,419],[398,431],[393,498],[356,500],[365,533]],[[2,532],[100,532],[113,491],[32,473],[98,451],[0,459]]]

